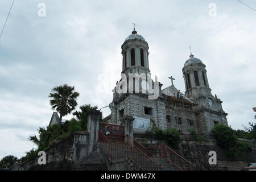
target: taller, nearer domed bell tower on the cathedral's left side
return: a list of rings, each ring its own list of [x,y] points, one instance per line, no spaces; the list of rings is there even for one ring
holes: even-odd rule
[[[135,26],[135,24],[134,24]],[[121,124],[125,115],[133,116],[134,132],[145,132],[153,119],[156,126],[166,129],[165,102],[160,82],[151,78],[148,64],[148,43],[133,28],[122,46],[121,80],[115,86],[111,107],[111,123]],[[123,83],[126,84],[123,84]],[[124,86],[126,85],[126,86]],[[122,92],[119,92],[119,91]],[[123,92],[127,91],[127,92]],[[156,96],[156,97],[152,97]]]

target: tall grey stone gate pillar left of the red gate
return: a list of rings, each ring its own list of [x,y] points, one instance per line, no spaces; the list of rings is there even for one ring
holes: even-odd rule
[[[98,141],[98,129],[100,124],[101,111],[91,110],[88,117],[87,131],[89,133],[88,154],[92,151],[94,144]]]

